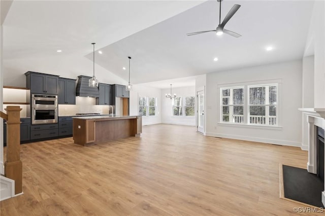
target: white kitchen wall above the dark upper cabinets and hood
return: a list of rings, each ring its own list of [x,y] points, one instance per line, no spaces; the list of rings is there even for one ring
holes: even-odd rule
[[[64,53],[55,54],[52,57],[44,58],[4,60],[4,85],[26,87],[24,73],[28,70],[71,79],[78,79],[79,75],[92,76],[93,62],[86,57],[64,55]],[[127,84],[125,80],[97,64],[95,64],[95,76],[100,83]]]

